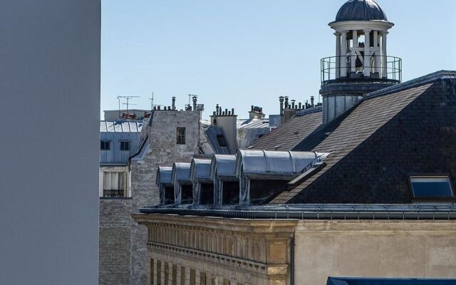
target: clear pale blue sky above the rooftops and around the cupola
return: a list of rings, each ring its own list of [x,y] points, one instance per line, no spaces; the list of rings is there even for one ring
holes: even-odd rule
[[[333,21],[345,0],[102,1],[101,108],[139,95],[130,108],[177,107],[197,94],[246,118],[250,105],[279,113],[278,97],[318,98],[320,59],[335,55]],[[455,0],[378,0],[395,26],[388,55],[403,79],[456,69]],[[103,117],[102,117],[103,118]]]

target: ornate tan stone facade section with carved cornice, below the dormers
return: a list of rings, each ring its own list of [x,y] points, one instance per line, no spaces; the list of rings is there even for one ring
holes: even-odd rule
[[[296,220],[133,217],[148,228],[147,284],[288,284]]]

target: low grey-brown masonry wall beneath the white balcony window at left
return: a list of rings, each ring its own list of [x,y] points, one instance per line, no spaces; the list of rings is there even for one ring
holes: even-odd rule
[[[98,284],[130,284],[131,199],[100,198]]]

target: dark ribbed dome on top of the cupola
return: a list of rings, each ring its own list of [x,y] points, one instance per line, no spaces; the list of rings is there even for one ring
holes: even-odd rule
[[[373,0],[350,0],[337,12],[336,22],[341,21],[388,21],[380,5]]]

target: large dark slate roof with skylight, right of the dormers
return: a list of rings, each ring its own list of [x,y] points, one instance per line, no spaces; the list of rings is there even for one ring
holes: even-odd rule
[[[370,93],[294,148],[331,155],[322,170],[271,204],[410,203],[407,171],[456,175],[455,106],[456,72]]]

